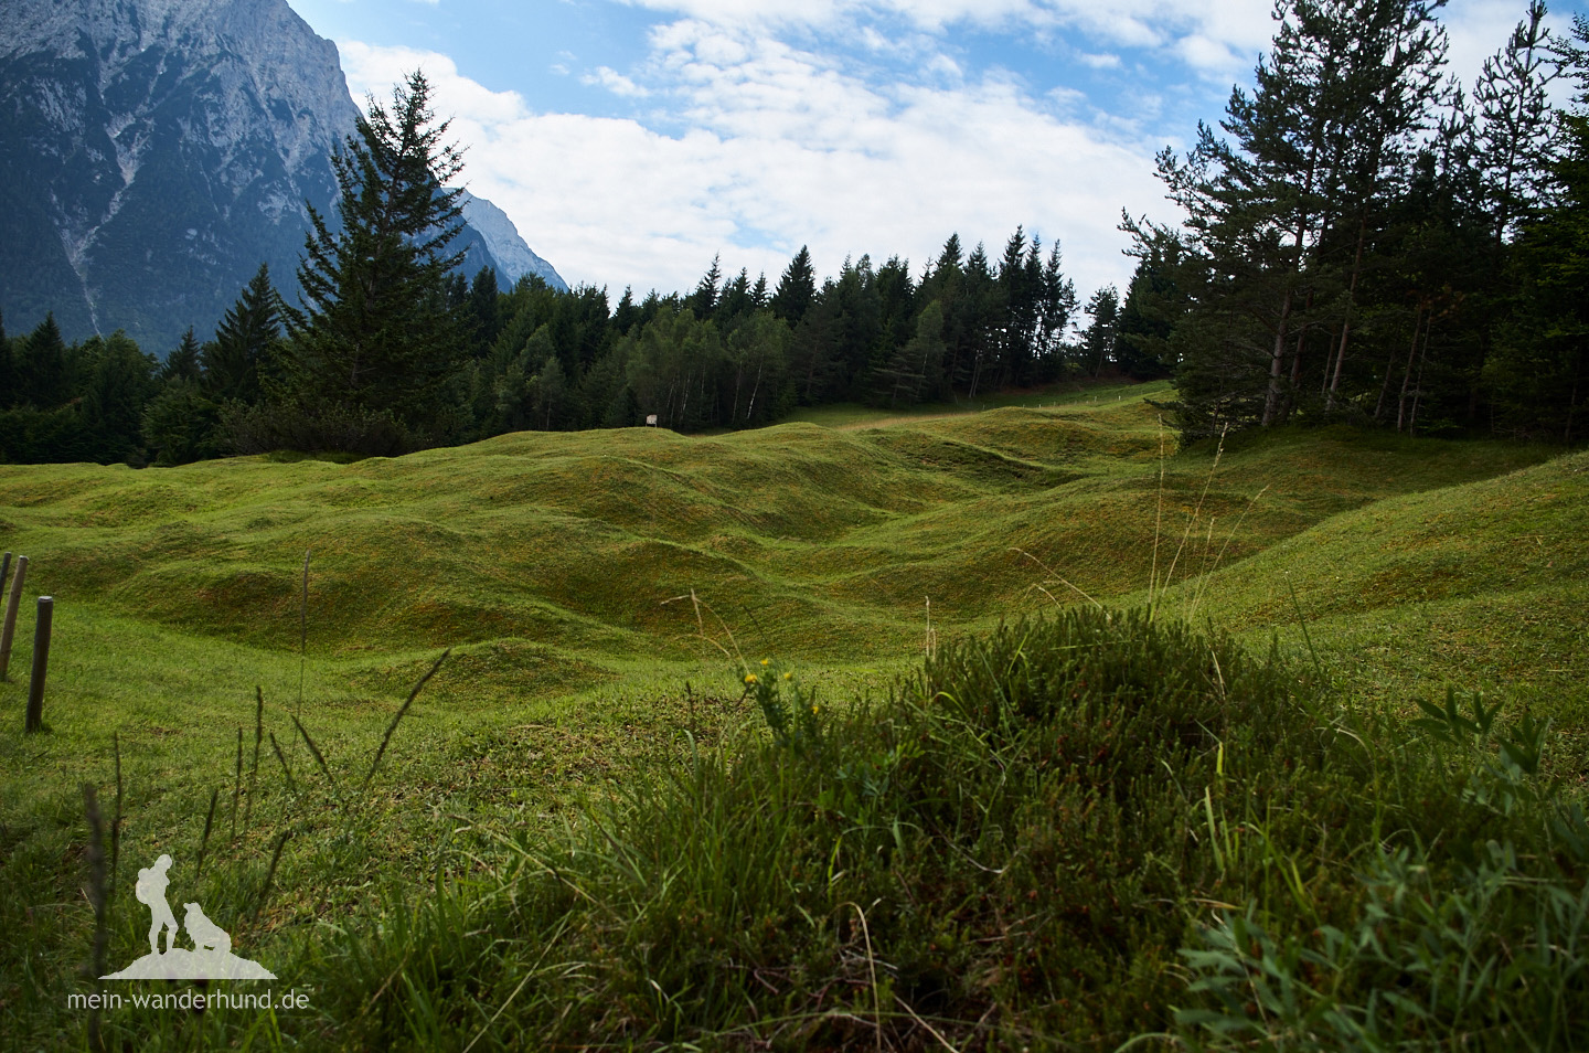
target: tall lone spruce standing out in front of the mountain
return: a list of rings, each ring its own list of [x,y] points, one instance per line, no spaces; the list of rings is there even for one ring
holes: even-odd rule
[[[332,156],[332,227],[313,207],[299,264],[305,310],[288,312],[286,401],[308,418],[335,422],[323,445],[358,444],[370,429],[434,441],[442,390],[466,353],[464,326],[448,305],[451,248],[462,229],[459,189],[447,189],[462,156],[443,142],[431,84],[410,73],[391,107],[369,118]],[[432,434],[427,434],[432,433]]]

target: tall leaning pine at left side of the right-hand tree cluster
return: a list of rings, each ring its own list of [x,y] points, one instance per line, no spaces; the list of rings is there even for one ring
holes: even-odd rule
[[[1203,127],[1185,162],[1160,156],[1209,277],[1184,350],[1211,383],[1182,388],[1184,423],[1278,423],[1308,369],[1333,401],[1378,213],[1443,100],[1441,2],[1279,0],[1231,142]]]

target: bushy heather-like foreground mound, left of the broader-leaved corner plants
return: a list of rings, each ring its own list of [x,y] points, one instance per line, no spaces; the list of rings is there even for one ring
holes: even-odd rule
[[[1333,741],[1278,659],[1146,614],[945,646],[842,716],[771,663],[742,679],[764,733],[521,843],[423,950],[350,945],[372,966],[348,997],[423,959],[419,988],[470,977],[448,989],[493,1045],[1117,1043],[1170,1026],[1182,905],[1228,880],[1204,805],[1284,795]],[[512,948],[551,931],[496,1015]],[[434,1037],[386,1020],[358,1042]]]

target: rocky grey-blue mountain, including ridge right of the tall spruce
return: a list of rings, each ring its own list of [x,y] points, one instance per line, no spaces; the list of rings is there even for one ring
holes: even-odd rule
[[[8,331],[52,310],[67,339],[124,328],[164,355],[261,262],[296,297],[305,200],[335,218],[329,154],[359,116],[335,45],[286,0],[0,0],[0,22]],[[561,286],[491,212],[464,270]]]

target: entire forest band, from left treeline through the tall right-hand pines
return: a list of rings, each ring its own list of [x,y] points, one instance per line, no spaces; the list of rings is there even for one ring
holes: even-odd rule
[[[392,455],[521,429],[750,428],[1103,374],[1173,377],[1187,437],[1287,422],[1579,442],[1589,422],[1589,19],[1533,0],[1463,86],[1438,2],[1281,0],[1254,87],[1130,216],[1136,272],[1085,305],[1058,243],[950,235],[907,261],[567,293],[459,272],[461,172],[415,73],[334,157],[297,302],[259,274],[157,358],[0,328],[0,463]],[[1565,99],[1565,105],[1552,105]]]

